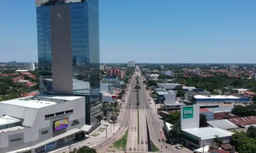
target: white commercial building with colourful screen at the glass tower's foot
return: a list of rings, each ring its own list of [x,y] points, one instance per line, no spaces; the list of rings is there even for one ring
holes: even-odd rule
[[[49,152],[82,140],[85,99],[80,96],[38,95],[0,103],[0,152]]]

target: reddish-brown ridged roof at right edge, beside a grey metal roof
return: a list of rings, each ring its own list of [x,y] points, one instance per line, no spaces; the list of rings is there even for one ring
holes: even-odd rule
[[[250,117],[237,117],[234,119],[228,119],[230,122],[236,124],[237,126],[250,126],[256,124],[256,116],[250,116]]]

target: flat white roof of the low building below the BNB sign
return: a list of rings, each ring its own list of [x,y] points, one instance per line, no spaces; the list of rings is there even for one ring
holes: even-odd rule
[[[220,137],[233,135],[232,132],[226,131],[220,128],[193,128],[193,129],[182,129],[182,131],[186,131],[191,135],[195,135],[198,138],[201,138],[201,140],[215,138],[214,135],[218,135]]]

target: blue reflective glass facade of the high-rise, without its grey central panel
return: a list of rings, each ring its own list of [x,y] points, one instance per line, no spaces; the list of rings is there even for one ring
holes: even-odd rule
[[[99,122],[96,119],[97,116],[102,115],[100,108],[95,109],[99,107],[100,92],[99,0],[60,5],[70,6],[68,20],[70,20],[71,29],[67,30],[71,31],[72,41],[70,52],[72,52],[73,94],[86,96],[86,124],[95,125]],[[58,5],[36,8],[41,94],[52,94],[54,80],[52,79],[51,43],[60,43],[51,40],[51,7],[56,6]]]

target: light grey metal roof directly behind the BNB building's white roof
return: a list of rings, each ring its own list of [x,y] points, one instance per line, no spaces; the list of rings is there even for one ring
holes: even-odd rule
[[[236,129],[236,128],[239,128],[238,126],[236,126],[236,124],[230,122],[227,119],[211,120],[211,121],[207,121],[207,123],[210,126],[212,126],[213,128],[221,128],[221,129]]]

